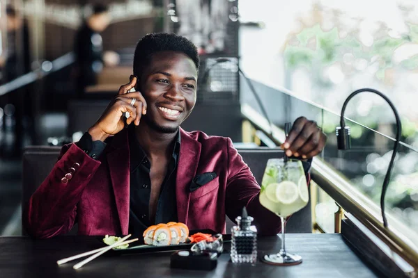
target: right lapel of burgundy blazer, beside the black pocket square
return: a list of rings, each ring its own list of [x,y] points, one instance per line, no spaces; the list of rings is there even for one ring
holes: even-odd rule
[[[201,153],[201,143],[180,128],[180,157],[176,177],[176,198],[178,222],[187,224],[189,215],[189,186],[196,175]]]

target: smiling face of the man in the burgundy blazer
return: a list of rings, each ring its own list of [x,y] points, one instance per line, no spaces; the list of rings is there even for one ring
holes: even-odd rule
[[[196,66],[185,54],[153,54],[139,81],[148,106],[144,120],[156,131],[177,132],[196,104],[196,80]]]

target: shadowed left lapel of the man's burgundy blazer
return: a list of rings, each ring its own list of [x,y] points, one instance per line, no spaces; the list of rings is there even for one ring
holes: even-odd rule
[[[107,153],[107,164],[114,189],[116,208],[121,221],[122,234],[126,235],[129,225],[130,196],[130,152],[127,129],[114,136]]]

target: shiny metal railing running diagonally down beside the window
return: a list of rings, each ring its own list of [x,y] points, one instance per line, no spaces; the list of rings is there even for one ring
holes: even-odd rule
[[[284,131],[274,125],[270,128],[268,121],[249,105],[242,104],[241,113],[245,120],[253,124],[256,129],[263,131],[277,145],[284,142]],[[271,136],[270,131],[272,131]],[[389,228],[383,227],[380,207],[320,158],[316,157],[312,162],[311,177],[344,211],[354,215],[393,252],[418,270],[417,231],[412,231],[392,215],[387,215]]]

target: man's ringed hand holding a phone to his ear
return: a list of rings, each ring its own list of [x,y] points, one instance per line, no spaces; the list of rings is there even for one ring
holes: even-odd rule
[[[119,88],[118,95],[111,101],[99,120],[88,129],[93,141],[106,140],[125,127],[125,114],[129,113],[126,124],[139,125],[141,116],[146,114],[146,101],[141,92],[130,92],[137,83],[136,76],[130,76],[130,83]]]

